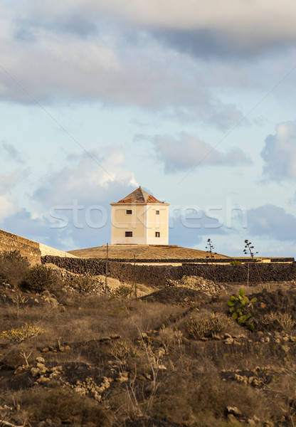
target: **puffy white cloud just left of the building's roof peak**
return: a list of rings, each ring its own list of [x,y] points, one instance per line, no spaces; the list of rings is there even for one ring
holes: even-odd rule
[[[72,157],[70,164],[59,172],[48,174],[34,198],[43,206],[73,204],[109,204],[122,198],[127,188],[135,188],[134,174],[125,167],[125,155],[120,147],[100,152],[92,150]],[[115,198],[115,200],[113,200]]]

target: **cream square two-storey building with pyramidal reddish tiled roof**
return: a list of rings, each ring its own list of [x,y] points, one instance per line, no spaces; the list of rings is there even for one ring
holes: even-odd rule
[[[111,244],[168,245],[169,204],[141,186],[111,205]]]

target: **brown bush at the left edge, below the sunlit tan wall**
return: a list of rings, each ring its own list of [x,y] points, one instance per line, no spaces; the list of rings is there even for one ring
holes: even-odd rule
[[[27,258],[21,256],[19,251],[0,253],[0,275],[14,287],[21,283],[29,267]]]

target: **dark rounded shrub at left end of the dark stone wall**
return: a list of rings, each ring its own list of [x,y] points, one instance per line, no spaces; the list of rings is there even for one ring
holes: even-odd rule
[[[26,273],[21,283],[22,288],[42,292],[50,290],[53,292],[60,284],[60,279],[56,276],[52,268],[45,265],[34,265]]]

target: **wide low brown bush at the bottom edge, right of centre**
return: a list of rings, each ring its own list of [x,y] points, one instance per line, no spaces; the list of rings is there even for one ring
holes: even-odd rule
[[[178,426],[213,427],[223,425],[230,402],[231,406],[240,408],[244,416],[265,417],[268,401],[263,399],[258,390],[222,381],[214,371],[198,380],[189,373],[171,374],[159,384],[151,415]],[[230,426],[233,425],[228,424]]]

